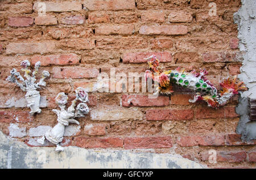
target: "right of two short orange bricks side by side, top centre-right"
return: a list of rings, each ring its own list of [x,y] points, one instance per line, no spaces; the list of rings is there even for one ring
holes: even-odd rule
[[[176,22],[176,23],[185,23],[185,22],[192,22],[192,15],[188,11],[183,10],[172,10],[168,16],[169,22]]]

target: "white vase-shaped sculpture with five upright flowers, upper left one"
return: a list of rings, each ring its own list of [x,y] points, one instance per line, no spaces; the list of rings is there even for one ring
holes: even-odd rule
[[[46,86],[46,82],[44,82],[44,79],[49,77],[48,71],[42,72],[42,78],[39,80],[38,83],[36,82],[36,74],[38,74],[38,69],[40,67],[40,61],[35,63],[35,69],[32,72],[32,76],[30,76],[31,70],[28,69],[30,66],[30,62],[28,60],[22,61],[21,65],[22,71],[24,71],[24,78],[20,75],[20,73],[13,68],[11,70],[11,75],[8,76],[6,79],[7,81],[11,83],[17,84],[22,91],[26,91],[25,98],[27,100],[27,107],[31,109],[30,114],[34,113],[40,113],[42,110],[39,108],[40,104],[40,93],[36,89],[41,89],[39,86]],[[19,83],[18,80],[20,80],[22,83]]]

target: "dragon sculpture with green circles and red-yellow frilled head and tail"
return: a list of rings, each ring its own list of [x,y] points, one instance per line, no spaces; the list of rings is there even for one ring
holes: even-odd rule
[[[156,87],[156,93],[170,94],[172,91],[172,84],[181,85],[184,88],[196,91],[195,96],[189,102],[196,102],[199,100],[206,101],[208,106],[212,108],[219,108],[228,103],[230,98],[241,90],[247,90],[245,84],[234,79],[224,79],[220,83],[222,91],[218,92],[216,87],[209,82],[205,75],[206,70],[196,72],[185,72],[185,68],[177,67],[175,70],[163,71],[159,67],[159,60],[155,55],[151,55],[149,58],[145,58],[148,61],[149,70],[145,72],[145,80],[148,78],[156,81],[158,87]],[[156,77],[157,76],[157,77]]]

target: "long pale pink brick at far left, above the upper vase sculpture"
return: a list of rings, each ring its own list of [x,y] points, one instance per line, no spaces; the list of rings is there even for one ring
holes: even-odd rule
[[[51,53],[55,50],[55,42],[10,42],[6,46],[6,54]]]

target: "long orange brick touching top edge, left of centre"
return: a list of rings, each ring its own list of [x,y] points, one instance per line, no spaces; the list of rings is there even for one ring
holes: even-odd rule
[[[84,8],[89,11],[97,10],[134,10],[135,1],[134,0],[84,0]]]

